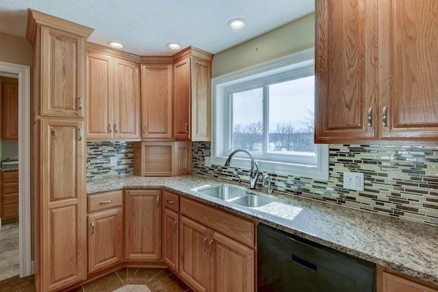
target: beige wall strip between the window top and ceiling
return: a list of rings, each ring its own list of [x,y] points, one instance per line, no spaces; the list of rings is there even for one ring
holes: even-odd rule
[[[315,14],[311,13],[214,56],[211,77],[315,47]]]

